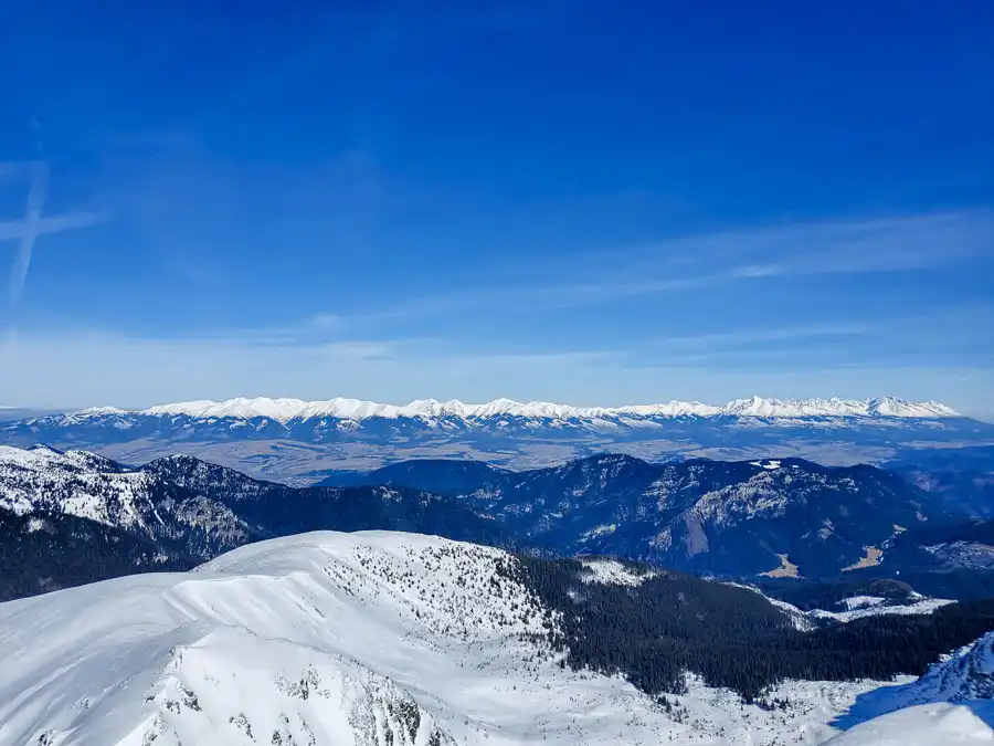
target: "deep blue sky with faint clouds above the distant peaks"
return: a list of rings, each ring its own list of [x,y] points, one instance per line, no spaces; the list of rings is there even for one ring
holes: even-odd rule
[[[988,2],[8,6],[0,403],[994,416]]]

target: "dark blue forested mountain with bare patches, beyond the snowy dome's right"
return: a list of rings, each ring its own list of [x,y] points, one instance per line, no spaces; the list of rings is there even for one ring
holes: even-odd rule
[[[901,532],[956,515],[874,466],[800,459],[657,465],[604,455],[527,472],[416,461],[363,481],[456,485],[453,494],[515,535],[562,554],[614,554],[729,575],[822,576],[871,566]]]

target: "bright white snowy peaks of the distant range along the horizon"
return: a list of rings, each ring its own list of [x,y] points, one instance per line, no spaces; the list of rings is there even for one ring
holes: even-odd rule
[[[781,400],[752,397],[749,399],[737,399],[722,406],[704,404],[698,401],[669,401],[666,403],[626,407],[572,407],[542,401],[522,403],[510,399],[496,399],[484,404],[467,404],[454,399],[451,401],[421,399],[409,404],[398,406],[341,398],[328,401],[239,398],[221,402],[203,400],[162,404],[137,412],[128,412],[113,407],[73,412],[74,416],[84,418],[129,413],[149,417],[187,416],[198,419],[266,418],[279,422],[288,422],[290,420],[306,421],[326,417],[357,421],[371,418],[455,418],[474,420],[494,417],[560,420],[594,420],[621,417],[959,417],[954,409],[934,401],[911,402],[893,397],[866,400],[838,398]]]

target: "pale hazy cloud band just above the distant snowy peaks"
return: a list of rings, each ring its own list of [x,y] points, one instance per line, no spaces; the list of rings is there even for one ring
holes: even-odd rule
[[[847,367],[831,347],[797,364],[765,350],[749,364],[692,354],[660,357],[613,350],[536,353],[423,346],[410,340],[341,340],[274,347],[233,339],[149,339],[102,333],[34,333],[0,339],[0,391],[8,404],[141,407],[170,400],[233,396],[335,396],[404,402],[434,397],[480,401],[507,396],[578,404],[622,404],[672,398],[726,401],[752,393],[867,397],[893,393],[947,400],[976,411],[987,400],[991,371],[880,359]],[[73,376],[64,361],[73,360]],[[784,363],[790,361],[790,365]]]

